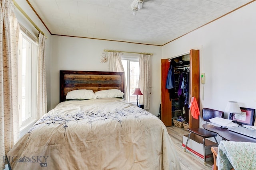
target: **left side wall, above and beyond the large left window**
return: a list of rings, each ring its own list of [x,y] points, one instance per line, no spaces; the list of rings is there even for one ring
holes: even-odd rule
[[[50,110],[51,100],[50,100],[50,75],[51,75],[51,34],[48,32],[46,27],[42,24],[42,22],[39,20],[39,18],[36,16],[34,11],[30,8],[26,0],[16,0],[18,5],[26,12],[26,14],[30,17],[30,19],[45,33],[45,35],[48,37],[45,42],[45,64],[46,64],[46,88],[47,88],[47,109]],[[24,17],[24,15],[16,8],[14,7],[14,13],[16,15],[16,18],[18,22],[23,25],[30,33],[35,35],[35,37],[38,37],[38,30]]]

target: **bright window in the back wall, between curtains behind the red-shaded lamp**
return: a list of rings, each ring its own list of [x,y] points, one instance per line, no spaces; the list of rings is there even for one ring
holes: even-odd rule
[[[122,64],[124,66],[124,72],[126,76],[126,84],[128,90],[128,102],[136,104],[137,96],[132,95],[135,88],[139,87],[140,65],[139,57],[122,56]]]

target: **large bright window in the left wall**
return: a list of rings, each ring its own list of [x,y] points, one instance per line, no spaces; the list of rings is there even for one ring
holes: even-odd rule
[[[18,41],[18,106],[20,131],[36,121],[37,95],[37,48],[20,30]]]

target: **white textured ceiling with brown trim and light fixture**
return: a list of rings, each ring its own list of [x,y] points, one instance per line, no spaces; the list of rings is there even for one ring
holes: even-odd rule
[[[164,45],[251,0],[26,0],[52,35]]]

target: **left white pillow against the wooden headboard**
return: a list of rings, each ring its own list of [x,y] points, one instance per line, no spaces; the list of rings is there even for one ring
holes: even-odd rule
[[[68,92],[66,99],[96,99],[96,96],[92,90],[80,89]]]

